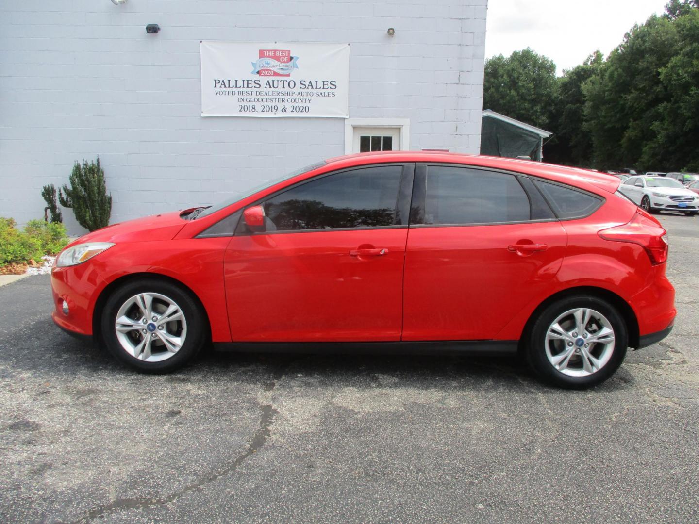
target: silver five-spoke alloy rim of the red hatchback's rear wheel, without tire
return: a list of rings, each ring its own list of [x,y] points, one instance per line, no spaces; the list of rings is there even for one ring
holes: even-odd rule
[[[596,310],[579,307],[559,315],[549,326],[545,351],[559,372],[587,377],[610,361],[614,342],[612,323]]]

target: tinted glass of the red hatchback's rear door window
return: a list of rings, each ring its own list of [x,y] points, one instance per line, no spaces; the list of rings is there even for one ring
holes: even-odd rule
[[[429,166],[425,224],[526,221],[529,199],[514,175],[456,166]]]

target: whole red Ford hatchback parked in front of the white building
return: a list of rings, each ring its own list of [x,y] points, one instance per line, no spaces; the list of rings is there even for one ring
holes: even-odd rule
[[[619,179],[531,161],[385,152],[208,208],[108,226],[52,270],[58,326],[167,372],[233,351],[521,352],[599,384],[675,319],[668,243]]]

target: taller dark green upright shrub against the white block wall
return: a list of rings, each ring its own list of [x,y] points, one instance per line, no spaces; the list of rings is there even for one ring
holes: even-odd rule
[[[96,163],[75,161],[70,177],[71,187],[64,184],[58,190],[58,199],[64,208],[73,208],[75,219],[82,227],[95,231],[109,225],[112,213],[112,197],[107,195],[104,170]],[[65,194],[65,196],[64,196]]]

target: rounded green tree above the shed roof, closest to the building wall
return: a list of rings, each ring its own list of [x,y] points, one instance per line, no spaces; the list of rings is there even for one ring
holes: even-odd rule
[[[547,129],[556,99],[556,64],[530,48],[485,64],[483,108]]]

